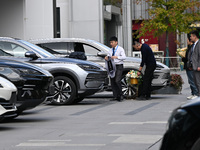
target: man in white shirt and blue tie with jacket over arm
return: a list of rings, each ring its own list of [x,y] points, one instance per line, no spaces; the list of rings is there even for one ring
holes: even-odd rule
[[[118,45],[117,37],[110,38],[111,49],[105,60],[109,60],[109,57],[114,60],[116,65],[115,76],[111,79],[111,87],[113,91],[113,100],[123,101],[121,79],[123,73],[123,61],[126,59],[124,49]]]

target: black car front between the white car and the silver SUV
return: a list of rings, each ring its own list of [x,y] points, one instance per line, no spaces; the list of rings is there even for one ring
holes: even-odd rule
[[[17,87],[18,114],[38,106],[54,93],[53,76],[32,64],[0,58],[0,76]]]

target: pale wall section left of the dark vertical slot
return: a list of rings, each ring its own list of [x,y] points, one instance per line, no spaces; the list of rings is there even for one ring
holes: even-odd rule
[[[1,0],[0,36],[33,39],[53,37],[52,0]]]

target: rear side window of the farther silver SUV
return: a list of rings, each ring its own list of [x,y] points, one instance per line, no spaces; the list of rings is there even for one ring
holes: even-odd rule
[[[40,44],[43,48],[50,48],[60,54],[69,55],[74,52],[74,43],[71,42],[55,42]],[[46,49],[48,51],[48,49]]]

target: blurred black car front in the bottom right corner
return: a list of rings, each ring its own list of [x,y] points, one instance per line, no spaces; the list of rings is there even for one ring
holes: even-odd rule
[[[169,120],[160,150],[200,149],[200,98],[176,108]]]

